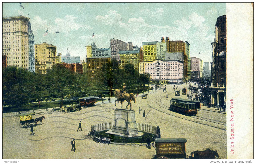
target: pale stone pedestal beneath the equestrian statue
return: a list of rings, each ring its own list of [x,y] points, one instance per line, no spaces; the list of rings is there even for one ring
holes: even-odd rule
[[[138,134],[134,110],[116,108],[112,132],[120,134]]]

